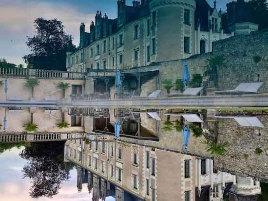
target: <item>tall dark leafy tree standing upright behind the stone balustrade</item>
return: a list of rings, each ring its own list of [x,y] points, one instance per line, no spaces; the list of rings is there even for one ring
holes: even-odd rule
[[[62,22],[57,19],[34,21],[36,35],[27,36],[27,46],[31,54],[23,59],[36,69],[66,70],[66,51],[75,51],[72,37],[64,31]]]

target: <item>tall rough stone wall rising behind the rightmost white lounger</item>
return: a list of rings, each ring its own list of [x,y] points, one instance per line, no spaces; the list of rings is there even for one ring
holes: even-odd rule
[[[267,91],[268,30],[216,41],[213,54],[223,55],[227,63],[218,71],[219,90],[234,89],[239,83],[265,82],[261,92]]]

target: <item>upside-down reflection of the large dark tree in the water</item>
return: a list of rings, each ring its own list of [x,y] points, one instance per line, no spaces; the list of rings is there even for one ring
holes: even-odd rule
[[[34,142],[20,157],[29,160],[23,167],[23,177],[32,180],[30,196],[51,198],[58,194],[60,184],[68,180],[64,169],[64,142]]]

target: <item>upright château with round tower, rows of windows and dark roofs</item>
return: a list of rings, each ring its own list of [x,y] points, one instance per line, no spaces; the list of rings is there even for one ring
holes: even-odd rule
[[[244,0],[227,4],[228,13],[207,0],[117,0],[117,18],[96,12],[86,32],[80,25],[78,50],[67,53],[67,70],[122,69],[186,59],[212,51],[212,42],[249,34],[258,25],[242,18]],[[246,26],[246,28],[245,28]]]

